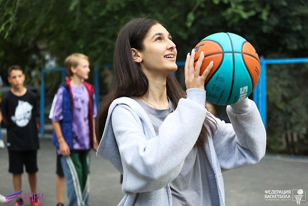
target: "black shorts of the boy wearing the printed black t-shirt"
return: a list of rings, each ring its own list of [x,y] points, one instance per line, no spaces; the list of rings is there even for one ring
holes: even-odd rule
[[[23,165],[27,173],[36,173],[37,168],[37,150],[29,151],[8,151],[8,172],[13,174],[22,174]]]

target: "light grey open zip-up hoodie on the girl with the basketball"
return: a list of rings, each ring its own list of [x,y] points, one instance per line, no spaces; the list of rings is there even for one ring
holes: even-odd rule
[[[258,163],[265,154],[266,132],[255,103],[248,98],[227,106],[231,124],[217,118],[214,134],[199,147],[211,200],[205,206],[224,206],[221,171]],[[188,89],[177,109],[168,115],[156,136],[143,108],[121,97],[108,110],[97,156],[106,158],[123,174],[125,194],[119,206],[172,206],[169,183],[181,172],[206,115],[205,90]],[[201,174],[203,171],[201,171]]]

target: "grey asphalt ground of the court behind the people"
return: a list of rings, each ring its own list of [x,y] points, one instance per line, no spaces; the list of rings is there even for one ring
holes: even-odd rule
[[[2,129],[4,141],[5,130]],[[42,206],[55,206],[55,148],[49,138],[40,139],[38,152],[38,192],[44,194]],[[11,174],[8,170],[7,150],[0,149],[0,194],[12,193]],[[223,173],[226,206],[297,206],[293,201],[297,191],[303,189],[301,206],[308,206],[308,159],[266,156],[257,165]],[[123,194],[121,192],[120,174],[102,158],[91,157],[91,206],[116,206]],[[22,190],[30,192],[27,176],[22,176]],[[291,191],[290,198],[265,198],[265,191],[278,193]],[[278,191],[278,192],[277,192]],[[22,195],[24,195],[24,192]],[[307,193],[308,196],[308,193]],[[265,200],[267,199],[267,200]],[[306,200],[306,201],[305,201]],[[65,197],[65,204],[68,203]],[[0,204],[1,205],[1,204]],[[13,202],[2,204],[13,206]],[[30,204],[25,204],[30,206]]]

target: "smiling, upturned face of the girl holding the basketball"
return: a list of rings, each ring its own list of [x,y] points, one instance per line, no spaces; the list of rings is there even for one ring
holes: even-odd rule
[[[160,24],[155,24],[149,30],[144,41],[144,50],[140,55],[142,70],[145,74],[164,76],[178,69],[176,64],[177,49],[171,34]]]

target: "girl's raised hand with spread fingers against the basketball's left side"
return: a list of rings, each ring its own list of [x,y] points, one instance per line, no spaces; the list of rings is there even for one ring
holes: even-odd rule
[[[209,65],[206,67],[203,74],[200,76],[200,68],[204,59],[204,54],[201,52],[200,57],[197,61],[196,67],[194,68],[194,62],[195,62],[195,49],[192,50],[192,54],[187,54],[186,62],[185,62],[185,84],[186,89],[191,88],[199,88],[199,89],[205,89],[205,79],[207,75],[209,74],[209,71],[213,67],[213,61],[209,63]]]

